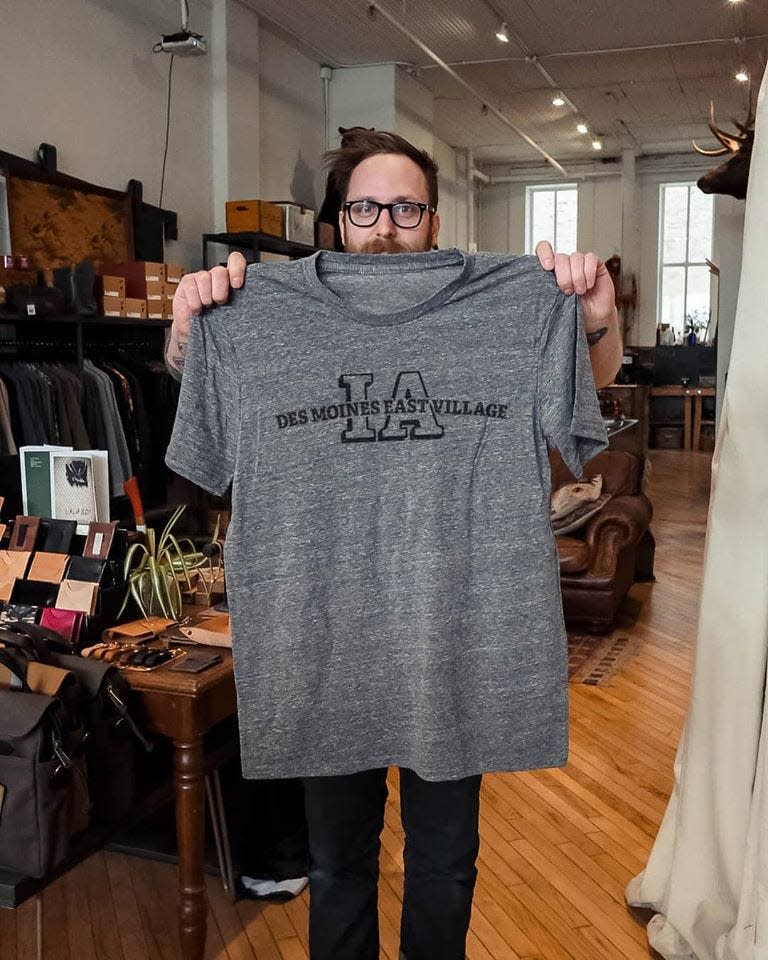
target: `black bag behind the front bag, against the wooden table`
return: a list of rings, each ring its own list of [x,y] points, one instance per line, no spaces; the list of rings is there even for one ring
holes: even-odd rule
[[[132,691],[120,670],[109,664],[67,653],[66,643],[39,624],[14,623],[0,629],[0,643],[30,660],[67,670],[77,677],[87,730],[85,759],[92,820],[115,823],[136,798],[136,749],[152,749],[131,714]],[[0,781],[2,782],[2,781]]]

